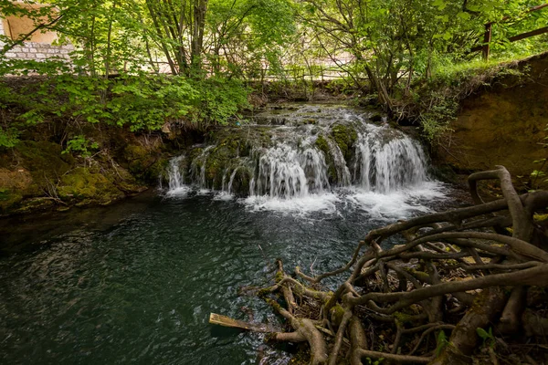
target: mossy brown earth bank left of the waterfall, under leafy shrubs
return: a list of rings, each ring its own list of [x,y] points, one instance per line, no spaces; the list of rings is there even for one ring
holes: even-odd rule
[[[99,148],[64,152],[54,133],[31,130],[0,151],[0,216],[107,205],[156,186],[180,142],[162,134],[86,130]]]

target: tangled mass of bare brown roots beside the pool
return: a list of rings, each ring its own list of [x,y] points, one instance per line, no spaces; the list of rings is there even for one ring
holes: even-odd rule
[[[503,199],[484,203],[481,180]],[[476,205],[374,229],[332,272],[290,276],[278,262],[258,295],[289,330],[268,339],[308,343],[311,364],[548,363],[547,237],[534,220],[548,192],[519,195],[502,166],[469,187]],[[402,245],[381,248],[396,235]],[[334,291],[329,276],[342,277]]]

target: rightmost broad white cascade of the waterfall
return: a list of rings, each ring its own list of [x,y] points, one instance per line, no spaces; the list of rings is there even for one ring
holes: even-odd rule
[[[358,133],[353,177],[365,191],[394,192],[427,181],[427,157],[404,133],[369,125]]]

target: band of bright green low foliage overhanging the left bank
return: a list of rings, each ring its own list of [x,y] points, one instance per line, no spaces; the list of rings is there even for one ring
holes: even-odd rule
[[[192,128],[224,124],[248,107],[249,90],[237,79],[193,79],[182,76],[121,74],[116,78],[73,76],[58,64],[43,62],[42,78],[22,83],[0,82],[0,108],[17,110],[16,120],[2,129],[2,143],[12,145],[16,130],[45,120],[105,123],[132,131],[160,130],[165,123]],[[0,69],[14,74],[28,64]],[[32,64],[34,65],[34,64]]]

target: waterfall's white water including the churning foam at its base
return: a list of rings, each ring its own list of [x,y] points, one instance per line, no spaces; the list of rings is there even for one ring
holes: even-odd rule
[[[417,141],[387,125],[367,123],[354,110],[335,110],[333,116],[338,121],[272,128],[267,145],[259,143],[220,167],[219,191],[210,189],[215,184],[205,175],[215,144],[195,153],[193,161],[174,158],[167,196],[214,193],[215,200],[236,199],[252,211],[336,214],[351,209],[379,219],[427,213],[432,201],[444,199],[443,185],[429,178],[427,156]],[[357,136],[346,154],[333,137],[337,123]],[[316,143],[320,135],[327,151]]]

